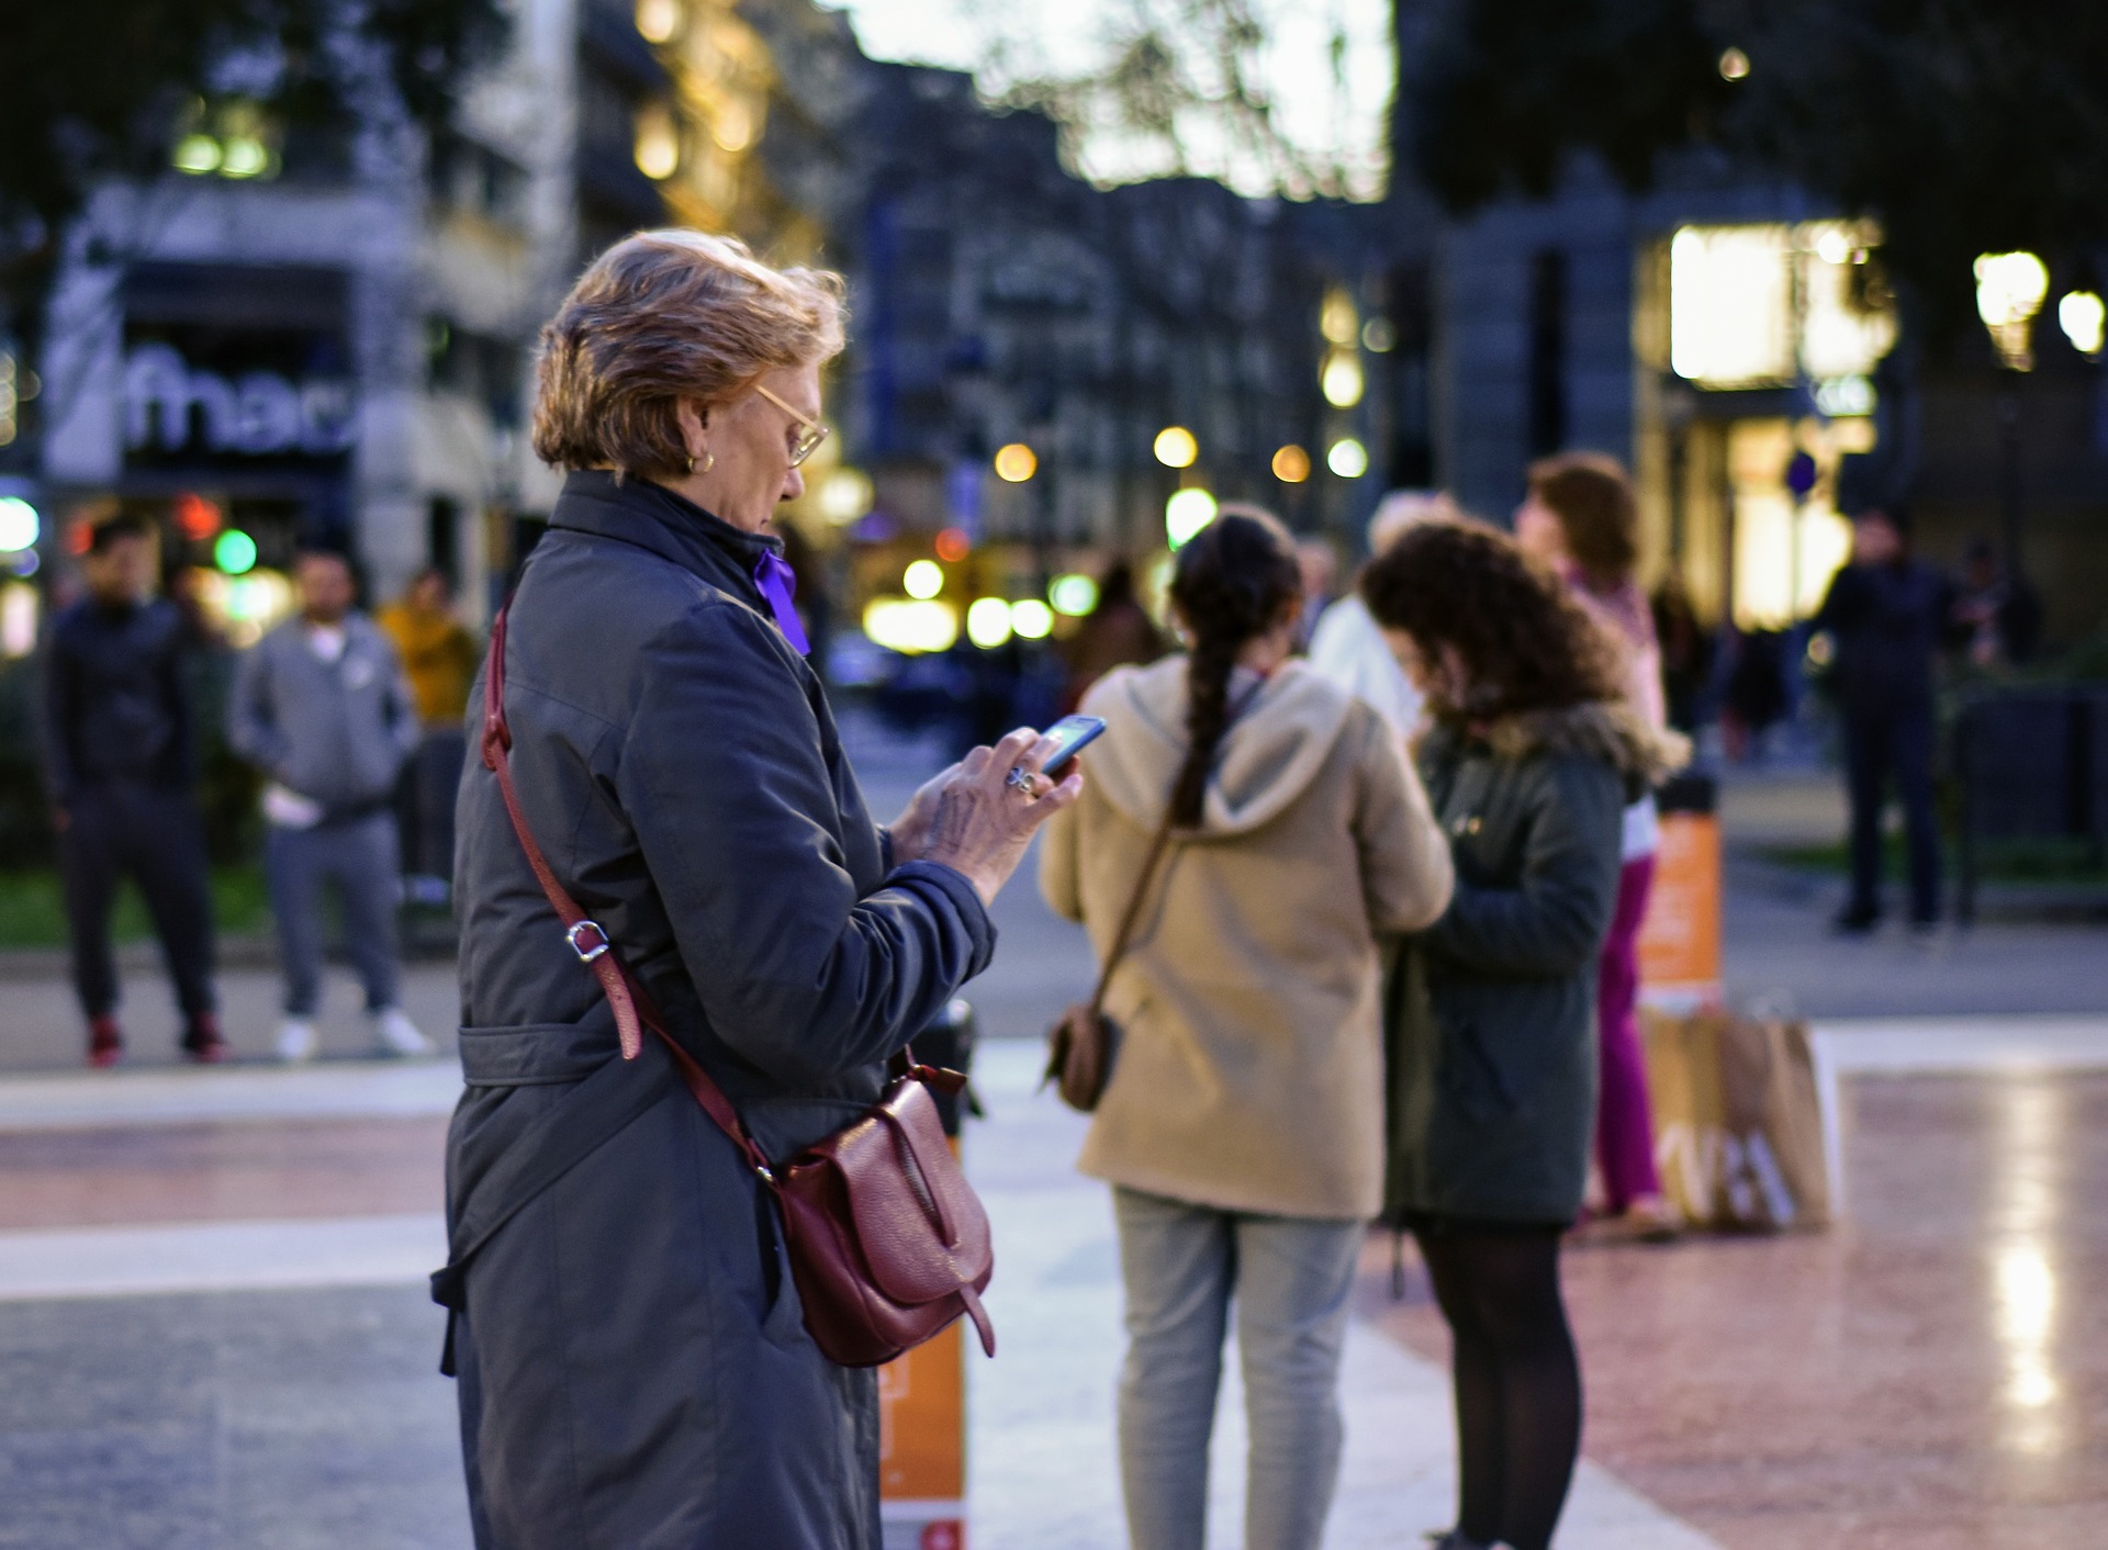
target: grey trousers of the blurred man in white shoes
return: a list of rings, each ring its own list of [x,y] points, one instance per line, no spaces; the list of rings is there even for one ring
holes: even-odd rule
[[[264,844],[278,957],[285,966],[285,1014],[308,1019],[323,1004],[323,884],[344,903],[344,953],[367,991],[367,1010],[396,1004],[396,829],[388,810],[314,829],[272,825]]]

